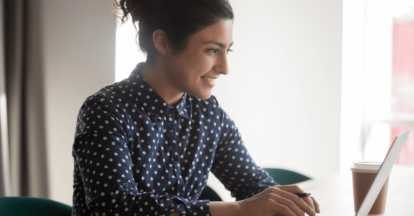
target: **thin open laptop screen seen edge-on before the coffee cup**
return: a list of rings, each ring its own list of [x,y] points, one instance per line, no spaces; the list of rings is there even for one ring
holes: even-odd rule
[[[410,131],[411,129],[408,129],[407,131],[400,133],[397,135],[397,137],[395,137],[393,144],[386,154],[384,162],[382,162],[377,175],[375,175],[373,184],[371,184],[371,187],[369,188],[368,193],[366,193],[364,201],[362,201],[362,205],[355,216],[368,215],[375,202],[375,199],[377,199],[378,194],[380,194],[382,186],[390,174],[395,161],[397,161],[398,155],[400,155],[400,151],[402,150],[402,147],[404,147],[404,143],[406,142]]]

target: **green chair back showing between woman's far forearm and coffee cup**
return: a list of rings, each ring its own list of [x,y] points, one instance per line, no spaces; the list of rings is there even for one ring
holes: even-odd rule
[[[306,175],[302,175],[300,173],[296,173],[295,171],[289,171],[286,169],[276,169],[276,168],[263,168],[265,171],[269,173],[273,180],[280,184],[296,184],[298,182],[303,182],[306,180],[310,180],[310,177]]]

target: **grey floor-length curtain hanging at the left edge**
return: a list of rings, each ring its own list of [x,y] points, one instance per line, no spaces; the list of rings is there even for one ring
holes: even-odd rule
[[[1,3],[11,195],[48,198],[41,8],[32,0]]]

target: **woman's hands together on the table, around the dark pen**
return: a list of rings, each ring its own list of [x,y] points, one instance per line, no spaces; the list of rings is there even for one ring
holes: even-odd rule
[[[304,193],[297,185],[274,185],[262,193],[237,203],[241,206],[244,216],[304,216],[304,213],[315,216],[315,208],[319,204],[313,197],[299,198],[293,193]]]

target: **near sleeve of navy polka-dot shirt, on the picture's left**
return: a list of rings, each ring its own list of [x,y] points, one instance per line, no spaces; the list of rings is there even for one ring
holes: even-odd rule
[[[146,134],[135,133],[134,127],[127,124],[131,121],[128,115],[124,115],[126,113],[111,98],[109,93],[95,94],[86,99],[79,111],[72,155],[74,187],[80,189],[75,188],[74,199],[86,199],[88,210],[95,215],[170,215],[175,210],[188,215],[205,215],[201,212],[203,207],[194,208],[204,206],[206,209],[205,201],[192,201],[168,193],[155,195],[149,185],[140,185],[138,190],[138,181],[135,182],[133,176],[144,180],[148,175],[133,164],[132,157],[141,160],[143,155],[134,155],[132,149],[139,148],[139,143],[134,140]],[[143,156],[144,159],[148,160]],[[157,167],[152,169],[157,173]]]

